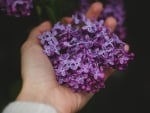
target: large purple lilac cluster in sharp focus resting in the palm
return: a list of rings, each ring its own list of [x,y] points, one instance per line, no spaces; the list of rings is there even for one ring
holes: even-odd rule
[[[72,24],[58,22],[38,38],[49,56],[59,84],[75,92],[98,92],[104,88],[104,70],[123,70],[133,58],[104,22],[73,15]]]

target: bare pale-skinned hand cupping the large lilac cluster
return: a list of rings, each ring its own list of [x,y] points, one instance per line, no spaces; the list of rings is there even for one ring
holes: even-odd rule
[[[87,18],[98,18],[102,9],[101,3],[92,4],[87,11]],[[64,20],[69,22],[71,18],[67,17]],[[116,21],[112,17],[108,18],[105,25],[113,30]],[[51,29],[49,22],[44,22],[34,28],[21,48],[23,87],[17,100],[48,104],[55,107],[58,113],[74,113],[80,110],[93,94],[74,93],[71,89],[57,83],[52,64],[43,54],[43,49],[37,39],[39,34],[49,29]],[[112,69],[106,70],[105,80],[112,71]]]

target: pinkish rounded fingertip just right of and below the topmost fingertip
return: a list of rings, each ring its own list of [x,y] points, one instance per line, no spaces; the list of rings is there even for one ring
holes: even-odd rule
[[[113,32],[116,29],[117,21],[114,17],[108,17],[105,20],[105,26],[110,28],[110,30]]]

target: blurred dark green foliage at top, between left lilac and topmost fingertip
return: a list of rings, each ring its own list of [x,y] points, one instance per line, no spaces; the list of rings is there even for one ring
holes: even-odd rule
[[[34,0],[33,5],[39,21],[56,23],[64,16],[71,16],[79,9],[80,0]]]

